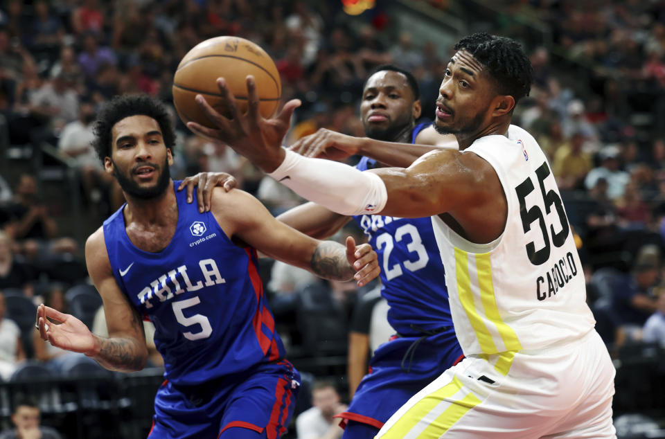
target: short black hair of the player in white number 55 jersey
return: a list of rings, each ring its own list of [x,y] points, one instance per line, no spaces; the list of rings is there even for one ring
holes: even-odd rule
[[[483,64],[497,82],[499,93],[513,96],[515,104],[529,96],[533,67],[514,39],[481,32],[460,39],[454,49],[467,51]]]

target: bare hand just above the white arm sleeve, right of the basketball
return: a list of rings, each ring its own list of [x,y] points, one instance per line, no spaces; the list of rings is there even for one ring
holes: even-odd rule
[[[305,157],[343,160],[360,152],[360,138],[320,128],[314,134],[300,138],[290,150]]]

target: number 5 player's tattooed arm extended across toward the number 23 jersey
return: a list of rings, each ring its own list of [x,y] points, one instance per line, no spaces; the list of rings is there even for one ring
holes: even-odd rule
[[[241,190],[213,192],[212,210],[229,237],[238,238],[267,256],[311,271],[330,280],[351,280],[366,285],[379,274],[375,251],[369,244],[346,247],[319,241],[276,220],[258,199]]]

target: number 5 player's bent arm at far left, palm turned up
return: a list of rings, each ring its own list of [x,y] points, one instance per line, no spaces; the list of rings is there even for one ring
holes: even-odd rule
[[[93,334],[76,317],[44,304],[37,309],[39,334],[53,346],[82,352],[107,369],[121,372],[141,370],[148,358],[143,324],[139,313],[116,284],[102,229],[88,238],[85,260],[90,277],[102,296],[109,337]]]

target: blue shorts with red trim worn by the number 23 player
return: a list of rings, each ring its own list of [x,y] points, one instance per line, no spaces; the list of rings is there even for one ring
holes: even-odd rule
[[[409,398],[462,358],[453,328],[428,337],[393,338],[375,350],[347,411],[335,418],[342,418],[342,425],[353,420],[380,429]]]

